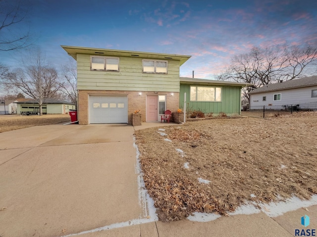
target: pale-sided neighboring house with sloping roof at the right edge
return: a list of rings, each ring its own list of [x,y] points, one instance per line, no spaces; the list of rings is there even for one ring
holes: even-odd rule
[[[250,109],[317,109],[317,76],[267,84],[251,92]]]

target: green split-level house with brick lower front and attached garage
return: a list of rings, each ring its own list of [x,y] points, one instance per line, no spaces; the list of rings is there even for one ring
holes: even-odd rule
[[[77,61],[79,124],[131,124],[136,110],[143,122],[159,121],[165,110],[182,107],[184,92],[189,106],[204,113],[240,111],[246,84],[179,77],[180,66],[191,56],[61,47]]]

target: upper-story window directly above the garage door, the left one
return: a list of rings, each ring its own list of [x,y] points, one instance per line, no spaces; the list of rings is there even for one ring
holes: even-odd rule
[[[92,71],[119,71],[119,58],[91,56]]]

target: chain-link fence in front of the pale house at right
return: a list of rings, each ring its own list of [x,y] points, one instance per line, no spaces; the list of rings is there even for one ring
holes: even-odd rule
[[[317,111],[317,102],[298,103],[289,105],[264,105],[264,106],[243,106],[241,115],[260,118],[271,118],[280,115],[289,115],[299,111]]]

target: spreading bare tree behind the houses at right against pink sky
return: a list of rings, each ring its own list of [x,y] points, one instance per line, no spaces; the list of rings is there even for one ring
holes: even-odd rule
[[[254,47],[249,53],[234,56],[218,79],[254,84],[243,89],[243,95],[250,102],[251,90],[280,80],[317,75],[316,65],[317,44]]]

